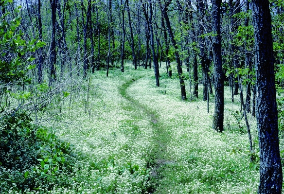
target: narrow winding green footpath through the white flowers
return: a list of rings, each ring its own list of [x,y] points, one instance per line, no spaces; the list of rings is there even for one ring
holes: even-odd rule
[[[174,163],[173,161],[168,160],[167,152],[167,142],[170,140],[170,133],[167,131],[167,127],[159,120],[159,112],[154,111],[153,109],[139,103],[131,95],[129,95],[126,90],[133,84],[139,77],[132,78],[126,83],[124,83],[121,88],[119,88],[120,94],[126,99],[129,103],[129,106],[132,106],[135,109],[141,109],[144,118],[150,121],[153,130],[153,142],[154,149],[152,150],[150,157],[147,159],[147,168],[151,170],[149,176],[149,182],[147,184],[147,193],[154,194],[160,193],[159,180],[162,178],[162,171],[165,168],[162,168],[163,165]]]

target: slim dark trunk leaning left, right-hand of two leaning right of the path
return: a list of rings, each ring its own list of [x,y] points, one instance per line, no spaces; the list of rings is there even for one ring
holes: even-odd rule
[[[172,31],[171,28],[171,23],[170,23],[170,19],[168,17],[168,6],[170,4],[170,1],[167,1],[165,3],[165,7],[162,10],[162,13],[164,14],[164,18],[166,21],[166,25],[167,25],[167,29],[168,29],[168,33],[172,42],[173,47],[175,48],[175,56],[176,56],[176,61],[177,61],[177,73],[178,73],[178,77],[179,77],[179,84],[180,84],[180,91],[181,91],[181,99],[182,100],[186,100],[186,91],[185,91],[185,84],[184,84],[184,75],[182,74],[182,69],[181,69],[181,64],[180,64],[180,57],[179,57],[179,53],[177,52],[177,42],[174,38],[174,33]],[[162,6],[161,6],[162,7]]]

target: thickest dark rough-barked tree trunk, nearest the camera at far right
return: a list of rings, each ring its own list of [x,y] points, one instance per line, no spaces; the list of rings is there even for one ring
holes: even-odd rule
[[[269,0],[252,0],[256,48],[256,120],[260,152],[258,194],[282,193],[278,116]]]

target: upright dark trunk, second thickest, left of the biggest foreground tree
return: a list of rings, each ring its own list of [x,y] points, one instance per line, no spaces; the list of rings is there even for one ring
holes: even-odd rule
[[[212,0],[212,31],[213,34],[217,34],[216,36],[213,36],[212,45],[215,87],[213,129],[222,132],[224,129],[224,80],[221,54],[220,7],[221,0]]]

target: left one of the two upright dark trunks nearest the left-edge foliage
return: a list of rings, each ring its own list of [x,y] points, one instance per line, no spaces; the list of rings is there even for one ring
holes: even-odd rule
[[[38,13],[37,13],[37,17],[38,17],[38,37],[39,37],[39,40],[42,41],[41,4],[40,4],[40,0],[38,0],[37,2],[38,2]],[[37,53],[38,53],[38,66],[37,66],[38,78],[37,78],[37,81],[38,81],[38,83],[41,83],[42,82],[42,62],[43,62],[42,48],[39,48],[37,50]]]

